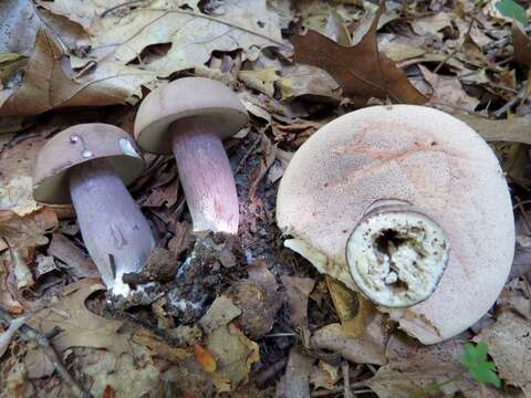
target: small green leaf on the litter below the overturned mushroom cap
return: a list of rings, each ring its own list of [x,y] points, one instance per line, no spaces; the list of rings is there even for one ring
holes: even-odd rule
[[[491,384],[500,388],[500,378],[494,373],[496,364],[487,359],[488,350],[489,347],[485,342],[479,342],[477,345],[465,344],[461,365],[467,368],[478,383]]]

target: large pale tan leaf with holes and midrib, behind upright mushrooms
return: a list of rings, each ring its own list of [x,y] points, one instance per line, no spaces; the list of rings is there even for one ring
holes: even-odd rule
[[[287,46],[282,43],[279,17],[269,10],[266,0],[223,1],[222,7],[210,10],[210,14],[201,13],[197,1],[186,1],[191,10],[181,8],[184,3],[154,0],[104,18],[91,15],[95,7],[88,7],[87,12],[81,12],[83,20],[79,19],[94,34],[88,59],[96,62],[113,59],[121,64],[139,61],[143,70],[168,76],[205,64],[216,50],[242,49],[246,59],[256,59],[264,46]],[[85,9],[85,1],[81,0],[42,1],[41,4],[67,18]],[[167,43],[171,45],[166,53],[143,57],[147,46]],[[86,60],[74,61],[74,66]]]

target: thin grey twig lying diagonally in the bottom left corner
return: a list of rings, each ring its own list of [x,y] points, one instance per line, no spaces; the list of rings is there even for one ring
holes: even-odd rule
[[[0,320],[11,323],[13,317],[9,315],[6,311],[0,310]],[[42,333],[38,332],[33,327],[29,325],[22,325],[19,329],[19,333],[22,334],[23,337],[27,339],[31,339],[35,342],[39,347],[44,352],[46,357],[50,359],[50,362],[53,364],[53,367],[55,370],[58,370],[59,376],[63,379],[64,383],[69,385],[69,387],[72,389],[72,392],[74,392],[75,396],[82,397],[82,398],[93,398],[92,394],[88,391],[85,391],[79,384],[77,381],[72,377],[72,375],[69,373],[69,370],[64,367],[58,352],[53,347],[53,345],[50,343],[49,338],[43,335]]]

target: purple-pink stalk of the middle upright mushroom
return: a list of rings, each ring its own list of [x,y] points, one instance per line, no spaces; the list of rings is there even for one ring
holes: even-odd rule
[[[194,231],[237,233],[235,178],[215,126],[209,121],[187,118],[175,122],[169,129]]]

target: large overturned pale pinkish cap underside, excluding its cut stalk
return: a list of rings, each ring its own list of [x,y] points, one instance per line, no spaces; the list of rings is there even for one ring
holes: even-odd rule
[[[296,151],[279,187],[277,222],[287,245],[356,290],[345,259],[350,233],[377,200],[426,211],[446,233],[448,264],[435,292],[385,308],[424,344],[477,322],[503,287],[514,251],[507,181],[487,143],[437,109],[374,106],[323,126]]]

